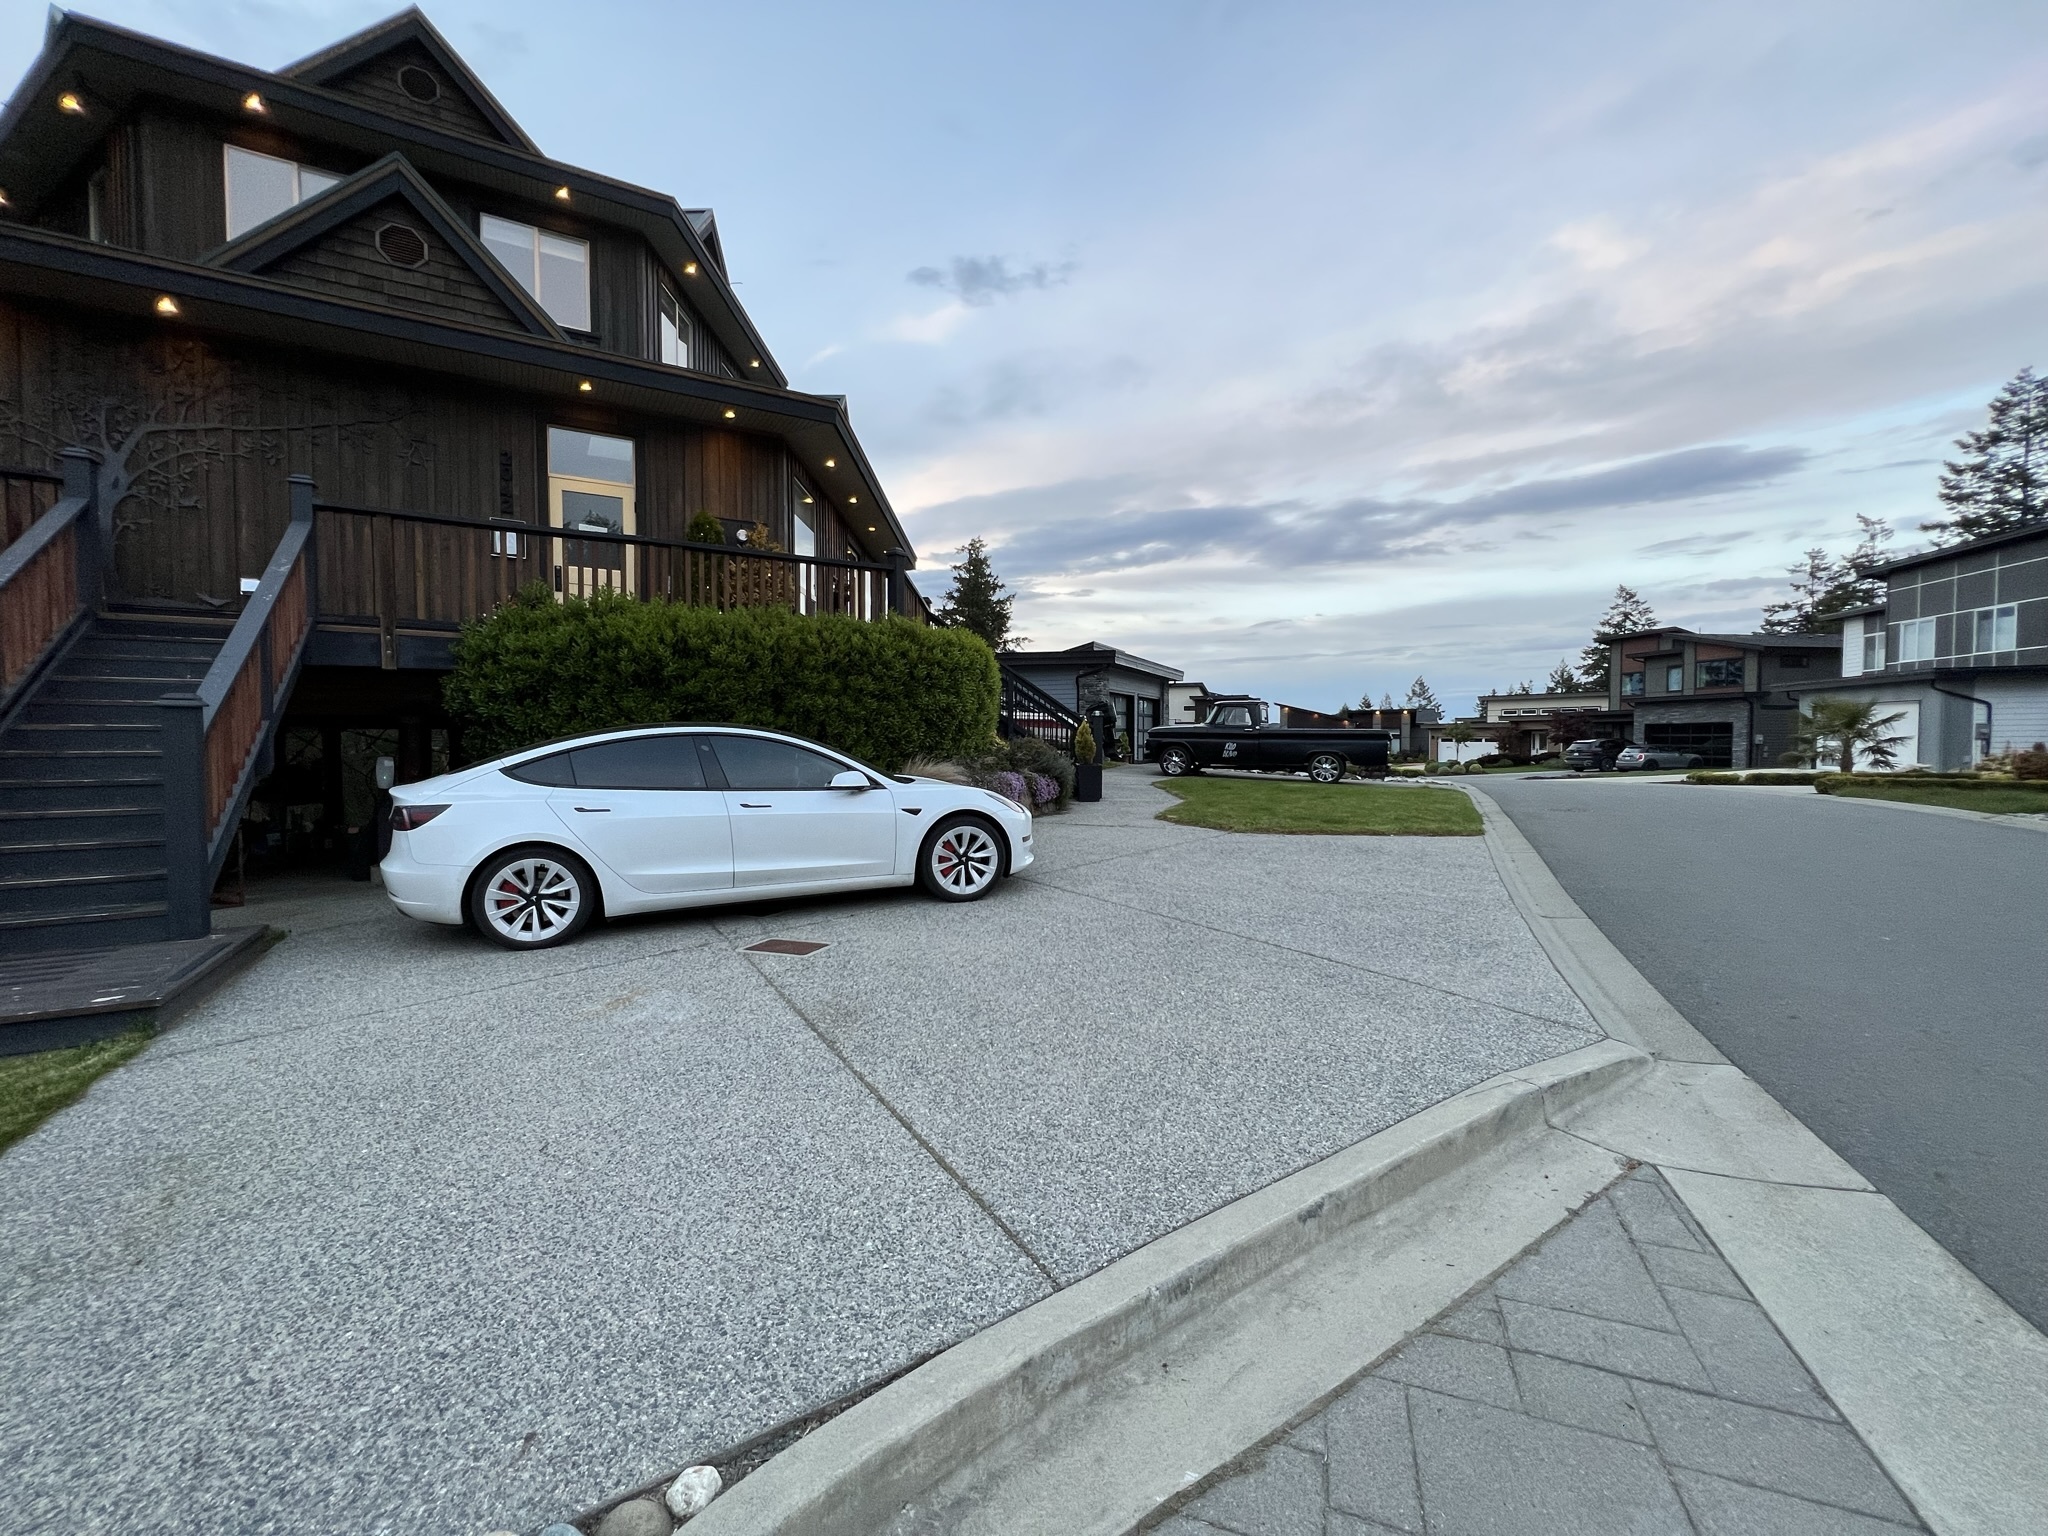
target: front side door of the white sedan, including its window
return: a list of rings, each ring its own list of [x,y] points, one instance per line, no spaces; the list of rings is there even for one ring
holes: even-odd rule
[[[829,788],[846,766],[793,741],[719,735],[737,885],[811,885],[895,874],[895,797]]]

